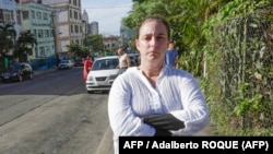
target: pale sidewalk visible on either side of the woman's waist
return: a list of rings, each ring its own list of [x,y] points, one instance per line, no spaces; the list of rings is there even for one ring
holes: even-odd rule
[[[207,125],[205,129],[198,132],[197,137],[212,137],[216,135],[214,134],[213,127]],[[97,151],[95,154],[114,154],[114,143],[112,143],[112,131],[110,127],[107,128],[107,130],[104,133],[104,137],[97,147]]]

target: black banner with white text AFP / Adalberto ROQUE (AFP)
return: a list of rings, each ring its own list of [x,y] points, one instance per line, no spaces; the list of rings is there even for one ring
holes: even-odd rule
[[[210,152],[273,154],[273,137],[120,137],[119,154],[129,152]]]

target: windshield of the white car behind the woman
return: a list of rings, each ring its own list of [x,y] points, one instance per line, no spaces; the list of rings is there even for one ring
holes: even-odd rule
[[[96,60],[92,67],[92,70],[109,70],[116,69],[118,66],[118,59],[100,59]]]

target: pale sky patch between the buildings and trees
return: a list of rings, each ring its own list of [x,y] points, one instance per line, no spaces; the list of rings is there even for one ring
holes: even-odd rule
[[[82,11],[88,14],[88,22],[98,22],[98,33],[118,35],[121,19],[131,11],[132,0],[82,0]]]

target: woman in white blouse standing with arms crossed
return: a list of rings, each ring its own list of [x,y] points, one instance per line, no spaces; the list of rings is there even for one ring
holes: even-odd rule
[[[115,154],[119,137],[193,135],[207,125],[209,108],[194,76],[164,64],[169,38],[163,16],[147,16],[139,25],[141,63],[115,79],[108,97]]]

